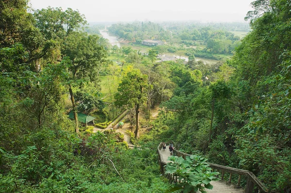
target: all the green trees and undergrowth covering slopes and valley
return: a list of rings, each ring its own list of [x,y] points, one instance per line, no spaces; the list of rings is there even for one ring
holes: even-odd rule
[[[289,193],[291,2],[252,6],[242,40],[229,32],[248,30],[239,24],[108,28],[134,44],[172,42],[143,55],[110,46],[96,35],[100,26],[84,30],[79,11],[30,13],[28,0],[2,0],[0,192],[164,193],[173,185],[160,176],[156,150],[173,140],[185,153],[253,172],[270,192]],[[189,61],[158,62],[166,50]],[[201,53],[233,56],[210,65],[195,60]],[[77,119],[86,113],[104,126],[125,109],[127,134],[141,150],[128,149],[124,134],[93,133]]]

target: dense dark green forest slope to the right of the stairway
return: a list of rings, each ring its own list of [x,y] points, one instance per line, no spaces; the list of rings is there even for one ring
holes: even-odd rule
[[[179,85],[163,104],[165,123],[179,149],[250,170],[271,190],[288,192],[291,2],[257,0],[253,7],[246,17],[252,31],[219,67],[216,81],[191,90],[189,82]]]

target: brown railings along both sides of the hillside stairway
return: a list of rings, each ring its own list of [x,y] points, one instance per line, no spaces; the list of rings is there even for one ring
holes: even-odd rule
[[[164,174],[164,165],[166,165],[167,163],[162,158],[161,148],[162,148],[162,143],[160,143],[158,146],[158,154],[159,154],[161,173]],[[186,156],[191,156],[191,154],[183,153],[177,149],[173,149],[173,154],[176,154],[178,157],[183,157],[184,159],[186,159]],[[207,164],[209,164],[209,166],[212,169],[221,170],[222,171],[222,179],[224,178],[225,172],[229,173],[230,174],[229,180],[228,180],[229,183],[231,182],[232,174],[239,174],[240,176],[239,176],[239,180],[238,180],[238,184],[237,184],[238,186],[241,183],[241,176],[246,176],[247,182],[246,182],[246,187],[244,189],[245,193],[252,193],[255,185],[259,189],[260,193],[268,193],[269,192],[269,190],[264,186],[264,184],[252,172],[250,172],[248,170],[227,167],[224,165],[218,165],[218,164],[214,164],[214,163],[207,163]],[[173,177],[173,176],[168,176],[168,177],[170,179],[175,180],[175,177]]]

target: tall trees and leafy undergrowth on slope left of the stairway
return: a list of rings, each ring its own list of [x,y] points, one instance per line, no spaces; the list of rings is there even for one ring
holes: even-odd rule
[[[31,14],[27,3],[0,2],[0,192],[164,192],[155,151],[129,151],[120,134],[90,135],[68,119],[72,106],[104,107],[96,83],[107,54],[80,30],[84,16],[50,7]]]

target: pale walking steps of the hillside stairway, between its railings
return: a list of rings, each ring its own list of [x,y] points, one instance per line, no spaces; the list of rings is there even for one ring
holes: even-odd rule
[[[168,157],[170,156],[169,146],[165,150],[161,149],[162,161],[168,163]],[[242,188],[234,188],[232,185],[226,185],[225,181],[211,181],[213,186],[212,190],[205,189],[207,193],[244,193]]]

